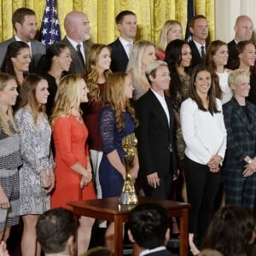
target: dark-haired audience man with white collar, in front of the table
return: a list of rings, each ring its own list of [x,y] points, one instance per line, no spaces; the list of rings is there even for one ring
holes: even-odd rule
[[[170,238],[166,209],[156,203],[133,208],[128,220],[128,236],[136,242],[139,253],[147,256],[172,256],[165,245]]]

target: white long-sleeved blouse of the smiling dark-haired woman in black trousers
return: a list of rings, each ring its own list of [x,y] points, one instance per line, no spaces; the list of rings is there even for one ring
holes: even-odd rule
[[[222,103],[217,99],[219,113],[202,111],[191,98],[181,105],[180,119],[183,138],[186,143],[185,154],[190,160],[207,165],[215,154],[224,159],[226,150],[226,129]]]

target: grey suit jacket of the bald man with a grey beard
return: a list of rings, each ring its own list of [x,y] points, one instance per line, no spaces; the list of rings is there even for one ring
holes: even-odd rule
[[[69,40],[67,39],[67,36],[65,36],[62,40],[62,43],[67,44],[69,49],[70,49],[70,54],[71,54],[71,58],[72,58],[72,62],[71,62],[71,66],[69,68],[68,73],[80,73],[83,74],[84,73],[84,64],[82,63],[79,54],[77,53],[77,49],[73,48],[73,45],[69,42]],[[86,59],[86,55],[87,55],[87,51],[88,49],[90,49],[90,46],[93,43],[90,41],[84,41],[83,42],[83,46],[84,46],[84,56]]]

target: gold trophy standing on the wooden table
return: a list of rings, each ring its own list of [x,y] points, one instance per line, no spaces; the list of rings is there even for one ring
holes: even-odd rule
[[[119,203],[121,205],[137,204],[137,195],[135,192],[133,181],[131,179],[131,166],[135,156],[136,145],[137,137],[135,137],[134,133],[127,135],[122,140],[122,146],[126,154],[123,157],[125,162],[125,183],[123,187],[123,192],[119,197]]]

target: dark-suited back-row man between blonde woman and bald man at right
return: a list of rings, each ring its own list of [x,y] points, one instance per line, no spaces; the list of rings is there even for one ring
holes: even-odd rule
[[[207,50],[208,23],[204,15],[195,15],[189,20],[189,31],[193,38],[189,41],[192,55],[192,67],[204,62]]]

